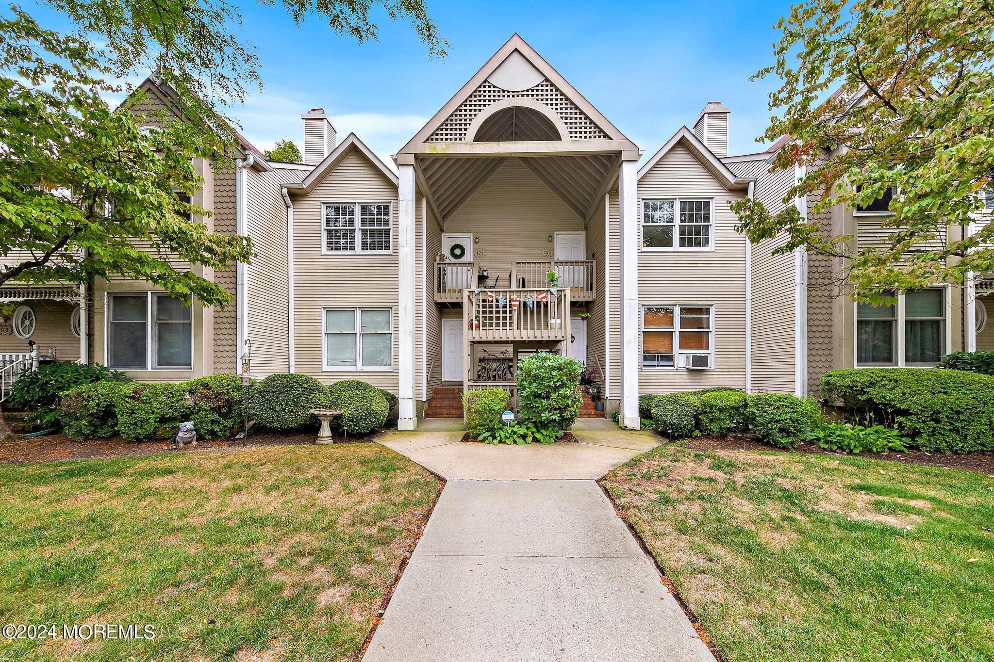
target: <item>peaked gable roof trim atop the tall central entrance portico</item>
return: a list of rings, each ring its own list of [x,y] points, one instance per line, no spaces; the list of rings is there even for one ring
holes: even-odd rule
[[[511,57],[515,52],[519,53],[525,60],[528,61],[532,66],[535,66],[546,78],[549,79],[556,87],[559,88],[564,95],[567,96],[578,108],[582,111],[594,124],[596,124],[604,132],[609,140],[624,140],[628,141],[623,133],[621,133],[617,127],[608,121],[599,110],[593,107],[589,101],[587,101],[582,94],[577,90],[576,87],[570,84],[570,82],[564,78],[559,71],[557,71],[553,66],[547,63],[542,56],[540,56],[535,49],[528,45],[525,40],[523,40],[517,33],[515,33],[511,39],[509,39],[504,46],[502,46],[497,53],[493,55],[490,60],[486,62],[485,65],[480,67],[480,69],[469,79],[466,83],[459,88],[459,91],[455,93],[448,102],[443,105],[438,112],[436,112],[427,123],[421,127],[421,129],[414,134],[414,138],[408,141],[403,148],[401,148],[400,153],[411,153],[412,148],[417,143],[422,143],[427,140],[435,129],[437,129],[442,122],[444,122],[452,112],[459,107],[459,105],[469,97],[470,94],[476,90],[480,84],[486,80],[498,66],[504,63],[509,57]],[[631,142],[631,141],[628,141]],[[637,149],[634,144],[631,146],[632,149]]]

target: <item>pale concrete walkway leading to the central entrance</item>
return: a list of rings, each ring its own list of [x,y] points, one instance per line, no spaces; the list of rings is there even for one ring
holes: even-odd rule
[[[714,661],[594,482],[655,436],[495,448],[454,423],[382,440],[448,482],[365,661]]]

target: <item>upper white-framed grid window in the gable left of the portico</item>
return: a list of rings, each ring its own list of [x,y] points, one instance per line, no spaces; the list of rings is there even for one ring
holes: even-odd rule
[[[322,217],[322,253],[391,252],[390,202],[326,203]]]

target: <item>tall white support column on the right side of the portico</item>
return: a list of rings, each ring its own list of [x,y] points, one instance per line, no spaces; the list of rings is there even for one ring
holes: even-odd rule
[[[621,272],[621,416],[622,428],[638,430],[638,171],[635,161],[621,162],[619,178]]]

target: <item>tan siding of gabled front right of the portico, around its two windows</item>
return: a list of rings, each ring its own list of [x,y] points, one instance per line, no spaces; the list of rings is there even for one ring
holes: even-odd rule
[[[729,208],[745,193],[727,191],[686,149],[678,145],[638,183],[642,199],[714,199],[715,250],[638,253],[638,298],[643,306],[714,306],[714,370],[643,367],[639,393],[687,391],[745,385],[745,238],[735,231]],[[639,351],[641,357],[641,350]]]

